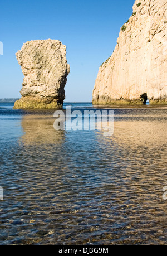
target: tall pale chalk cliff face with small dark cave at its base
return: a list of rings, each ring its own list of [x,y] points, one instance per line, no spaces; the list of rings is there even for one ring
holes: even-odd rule
[[[100,67],[94,104],[167,104],[167,1],[136,0],[112,56]]]

